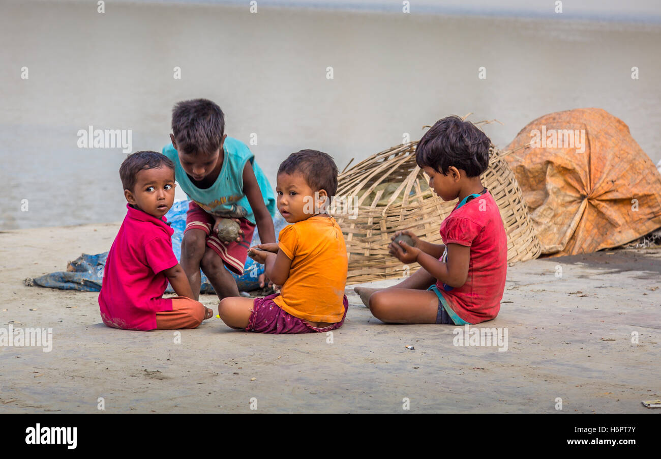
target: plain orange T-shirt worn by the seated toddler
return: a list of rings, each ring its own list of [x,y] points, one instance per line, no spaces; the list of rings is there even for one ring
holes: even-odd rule
[[[278,246],[292,260],[273,302],[299,319],[336,323],[344,315],[348,261],[342,230],[332,217],[313,216],[280,231]]]

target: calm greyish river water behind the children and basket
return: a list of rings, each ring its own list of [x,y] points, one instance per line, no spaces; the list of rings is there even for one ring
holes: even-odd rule
[[[658,24],[3,1],[0,38],[0,230],[122,220],[126,154],[79,147],[79,130],[131,130],[132,151],[160,151],[173,104],[198,97],[229,136],[256,139],[273,185],[293,151],[341,170],[468,112],[504,123],[485,127],[504,147],[543,114],[600,107],[661,159]]]

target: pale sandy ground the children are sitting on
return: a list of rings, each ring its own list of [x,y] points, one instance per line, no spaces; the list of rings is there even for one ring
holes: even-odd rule
[[[332,343],[237,332],[215,317],[176,343],[173,331],[106,327],[97,293],[24,286],[106,251],[117,230],[0,233],[0,328],[53,329],[51,352],[0,347],[0,412],[98,413],[99,397],[106,412],[248,413],[251,399],[256,412],[405,413],[405,399],[409,412],[661,411],[641,405],[661,393],[661,249],[510,267],[500,315],[479,325],[508,330],[505,352],[453,345],[454,326],[384,325],[352,288]],[[215,296],[202,302],[217,311]]]

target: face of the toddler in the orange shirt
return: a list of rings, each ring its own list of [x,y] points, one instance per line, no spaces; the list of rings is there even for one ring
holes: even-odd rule
[[[288,223],[302,222],[319,213],[319,203],[315,206],[315,191],[307,185],[302,174],[280,173],[276,178],[278,186],[278,210]],[[327,196],[326,190],[319,190],[319,200]]]

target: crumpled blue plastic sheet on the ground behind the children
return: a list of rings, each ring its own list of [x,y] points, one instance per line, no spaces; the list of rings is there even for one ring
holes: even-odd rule
[[[172,248],[175,252],[176,259],[181,257],[181,239],[184,236],[184,229],[186,228],[186,211],[188,210],[188,200],[177,201],[172,206],[170,211],[165,214],[168,222],[172,223],[172,229],[175,233],[172,235]],[[276,214],[273,220],[276,229],[276,238],[280,230],[287,225],[287,222]],[[253,241],[251,245],[260,243],[259,234],[254,231]],[[67,266],[67,271],[51,272],[34,279],[28,279],[26,284],[37,285],[42,287],[59,288],[61,290],[81,290],[83,292],[100,292],[101,282],[103,279],[103,269],[106,265],[106,257],[108,252],[99,253],[97,255],[87,255],[83,253],[80,257],[71,261]],[[202,274],[202,293],[214,294],[214,288],[209,283],[208,278]],[[257,290],[259,287],[258,277],[264,272],[264,265],[255,263],[253,259],[248,257],[243,269],[243,276],[231,273],[237,281],[239,290],[243,292],[250,292]],[[166,292],[173,293],[172,287],[168,285]]]

